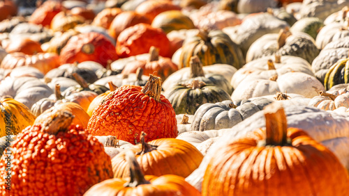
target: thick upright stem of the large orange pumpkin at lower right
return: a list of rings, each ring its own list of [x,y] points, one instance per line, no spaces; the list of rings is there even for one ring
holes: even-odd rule
[[[266,140],[265,145],[284,146],[289,145],[287,138],[287,120],[283,104],[276,101],[265,106],[265,127]]]

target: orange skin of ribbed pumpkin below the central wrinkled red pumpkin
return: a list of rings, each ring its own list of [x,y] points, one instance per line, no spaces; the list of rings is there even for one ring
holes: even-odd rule
[[[137,152],[142,152],[142,144],[131,148],[144,175],[159,177],[165,174],[175,174],[180,177],[188,177],[191,172],[199,167],[204,157],[198,149],[184,140],[162,138],[152,140],[148,144],[158,147],[142,155],[136,154]],[[130,176],[125,153],[125,151],[120,152],[112,158],[114,178]]]

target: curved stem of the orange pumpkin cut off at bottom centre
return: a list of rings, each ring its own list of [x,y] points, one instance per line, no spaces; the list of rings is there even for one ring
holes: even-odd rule
[[[142,170],[140,170],[140,165],[135,159],[135,154],[131,150],[126,150],[125,158],[130,166],[130,181],[124,184],[124,187],[137,187],[141,184],[150,183],[146,179],[144,179],[144,175],[142,174]]]

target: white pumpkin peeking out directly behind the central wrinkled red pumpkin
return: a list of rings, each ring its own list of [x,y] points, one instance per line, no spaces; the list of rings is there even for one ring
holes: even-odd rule
[[[107,86],[108,82],[114,83],[116,86],[123,86],[123,85],[140,85],[144,86],[149,79],[149,76],[143,75],[142,68],[139,68],[135,74],[117,74],[114,76],[106,76],[102,79],[99,79],[94,84],[96,85],[105,85]]]

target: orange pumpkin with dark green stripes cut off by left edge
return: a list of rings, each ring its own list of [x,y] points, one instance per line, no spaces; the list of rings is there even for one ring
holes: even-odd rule
[[[0,137],[17,135],[34,120],[35,116],[24,104],[11,98],[0,99]]]

